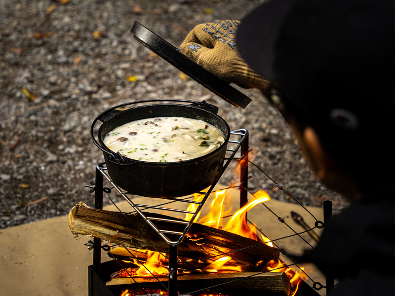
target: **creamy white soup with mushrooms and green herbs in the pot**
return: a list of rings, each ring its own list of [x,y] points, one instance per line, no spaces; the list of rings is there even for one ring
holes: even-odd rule
[[[156,117],[118,126],[103,142],[112,151],[131,159],[176,162],[214,151],[224,144],[225,136],[199,119]]]

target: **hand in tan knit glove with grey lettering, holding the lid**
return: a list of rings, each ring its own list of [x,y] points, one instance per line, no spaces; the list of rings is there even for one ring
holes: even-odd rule
[[[215,21],[197,25],[185,38],[180,52],[227,82],[264,90],[270,82],[244,62],[237,51],[239,21]]]

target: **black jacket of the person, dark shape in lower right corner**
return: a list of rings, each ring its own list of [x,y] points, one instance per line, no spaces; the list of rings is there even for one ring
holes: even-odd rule
[[[395,295],[393,195],[388,190],[366,197],[333,216],[317,247],[305,253],[324,274],[339,279],[328,296]]]

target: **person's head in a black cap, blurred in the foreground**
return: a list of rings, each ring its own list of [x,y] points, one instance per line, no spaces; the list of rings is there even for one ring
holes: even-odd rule
[[[270,0],[237,32],[317,176],[351,198],[394,177],[394,15],[392,0]]]

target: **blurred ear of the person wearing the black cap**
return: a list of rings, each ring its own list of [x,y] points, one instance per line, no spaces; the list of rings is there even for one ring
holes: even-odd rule
[[[312,127],[306,127],[303,130],[302,137],[306,148],[309,150],[310,161],[316,176],[321,181],[327,179],[332,169],[332,157],[322,147],[316,131]]]

